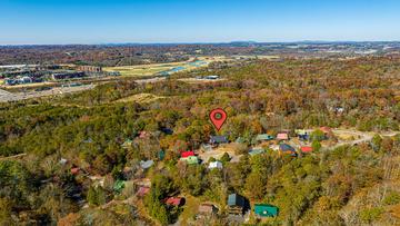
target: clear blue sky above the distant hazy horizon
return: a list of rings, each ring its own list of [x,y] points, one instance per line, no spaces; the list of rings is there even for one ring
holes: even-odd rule
[[[399,0],[0,0],[0,45],[399,41]]]

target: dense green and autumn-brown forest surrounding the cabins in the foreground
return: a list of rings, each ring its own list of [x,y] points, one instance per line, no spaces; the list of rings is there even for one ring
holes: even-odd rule
[[[261,222],[251,215],[251,225],[400,224],[400,135],[384,136],[400,130],[400,58],[259,60],[202,72],[223,80],[178,80],[192,76],[184,72],[0,105],[0,223],[231,225],[227,197],[237,193],[279,207]],[[119,101],[139,94],[159,98]],[[208,119],[218,107],[229,115],[219,132]],[[374,136],[296,158],[268,148],[248,155],[259,134],[323,126]],[[227,154],[223,169],[209,170],[179,160],[213,135],[228,137],[239,161]],[[146,160],[154,165],[143,170]],[[140,198],[136,181],[144,179],[151,189]],[[188,205],[166,205],[176,195]],[[192,199],[212,202],[218,214],[196,218]]]

